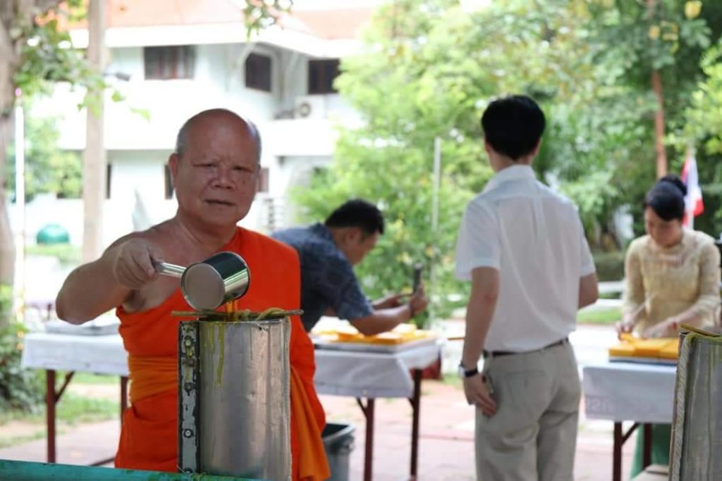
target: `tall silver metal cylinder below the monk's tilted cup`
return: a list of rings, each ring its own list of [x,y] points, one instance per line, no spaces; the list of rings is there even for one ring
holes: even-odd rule
[[[199,322],[199,472],[290,480],[290,322]]]

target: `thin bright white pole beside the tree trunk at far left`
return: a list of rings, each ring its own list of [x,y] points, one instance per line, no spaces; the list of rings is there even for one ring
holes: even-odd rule
[[[15,105],[15,208],[17,230],[15,231],[15,316],[25,319],[25,114],[18,89]]]

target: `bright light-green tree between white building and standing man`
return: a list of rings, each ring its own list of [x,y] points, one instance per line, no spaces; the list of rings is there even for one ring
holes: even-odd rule
[[[439,314],[468,288],[453,278],[453,252],[464,205],[492,174],[480,115],[503,92],[545,103],[569,97],[593,73],[571,55],[583,14],[562,2],[497,2],[467,14],[457,1],[402,0],[375,15],[367,53],[344,60],[336,82],[365,123],[342,129],[331,169],[296,197],[305,221],[352,196],[383,209],[388,232],[357,269],[370,295],[409,286],[417,262],[436,270]],[[430,226],[435,137],[443,143],[438,231]]]

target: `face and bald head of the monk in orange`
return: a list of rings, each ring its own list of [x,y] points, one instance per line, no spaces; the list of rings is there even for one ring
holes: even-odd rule
[[[243,120],[222,114],[197,119],[184,151],[170,156],[179,213],[209,227],[238,224],[256,195],[257,149]]]

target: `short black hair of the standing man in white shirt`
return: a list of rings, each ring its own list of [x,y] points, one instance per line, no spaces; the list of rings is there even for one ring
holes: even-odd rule
[[[546,125],[544,112],[526,95],[494,100],[482,115],[484,138],[495,151],[512,160],[534,151]]]

